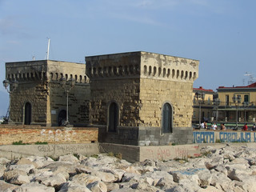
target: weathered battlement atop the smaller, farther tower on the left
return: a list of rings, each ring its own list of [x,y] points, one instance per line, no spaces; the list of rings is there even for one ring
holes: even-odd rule
[[[12,82],[58,81],[74,78],[76,82],[88,83],[85,65],[74,62],[51,60],[30,62],[6,62],[6,78]]]

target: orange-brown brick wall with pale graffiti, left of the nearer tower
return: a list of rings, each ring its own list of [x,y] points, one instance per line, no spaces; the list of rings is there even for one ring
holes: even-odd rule
[[[40,127],[0,125],[0,145],[11,145],[13,142],[33,144],[47,143],[91,143],[98,142],[97,128]]]

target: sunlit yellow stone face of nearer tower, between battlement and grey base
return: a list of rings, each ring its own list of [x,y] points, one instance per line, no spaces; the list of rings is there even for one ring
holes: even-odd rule
[[[144,126],[161,127],[162,106],[169,102],[173,107],[173,126],[189,127],[192,118],[193,83],[167,82],[156,79],[141,79],[140,99],[142,107],[139,113]]]

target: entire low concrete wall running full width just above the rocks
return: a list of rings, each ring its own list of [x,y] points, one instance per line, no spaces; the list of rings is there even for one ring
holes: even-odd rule
[[[0,146],[0,158],[17,159],[29,156],[48,156],[58,158],[64,154],[92,154],[107,153],[121,154],[128,162],[142,162],[151,160],[170,160],[174,158],[193,158],[200,156],[200,149],[205,146],[222,148],[227,143],[201,143],[179,146],[128,146],[113,143],[84,143],[84,144],[55,144],[55,145],[26,145]],[[246,146],[255,148],[255,142],[228,143],[230,146]]]

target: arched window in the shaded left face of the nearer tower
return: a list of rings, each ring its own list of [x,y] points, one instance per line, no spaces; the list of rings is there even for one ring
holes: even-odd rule
[[[109,107],[109,132],[116,132],[118,127],[118,105],[115,102],[110,103]]]

